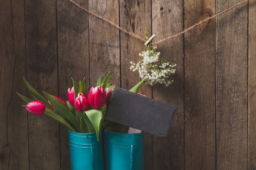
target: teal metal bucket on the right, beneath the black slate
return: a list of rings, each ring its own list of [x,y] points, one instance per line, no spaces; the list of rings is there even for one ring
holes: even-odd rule
[[[143,133],[105,130],[105,170],[144,170]]]

